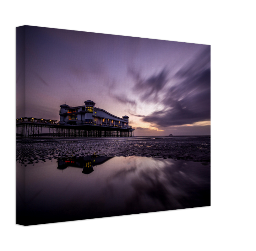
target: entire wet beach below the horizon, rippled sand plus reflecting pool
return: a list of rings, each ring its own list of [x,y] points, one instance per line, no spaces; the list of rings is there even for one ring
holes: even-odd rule
[[[209,208],[210,140],[16,138],[16,216],[91,219]]]

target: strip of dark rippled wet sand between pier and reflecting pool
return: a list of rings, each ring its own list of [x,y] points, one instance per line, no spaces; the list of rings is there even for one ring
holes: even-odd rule
[[[88,155],[142,156],[211,163],[210,136],[131,138],[31,138],[16,139],[16,162],[34,164],[46,159]]]

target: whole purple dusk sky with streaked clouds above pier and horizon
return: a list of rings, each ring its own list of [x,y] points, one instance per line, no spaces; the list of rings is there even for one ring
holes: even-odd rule
[[[210,135],[211,46],[38,26],[16,30],[16,117],[94,101],[134,136]]]

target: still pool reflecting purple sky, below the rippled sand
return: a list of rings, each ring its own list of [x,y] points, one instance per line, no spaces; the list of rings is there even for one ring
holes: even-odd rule
[[[210,167],[192,161],[91,155],[28,165],[25,175],[27,216],[84,218],[210,205]]]

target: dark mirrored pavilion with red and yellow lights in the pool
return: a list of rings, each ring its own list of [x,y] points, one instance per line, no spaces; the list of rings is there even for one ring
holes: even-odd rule
[[[58,160],[57,169],[66,169],[67,167],[83,168],[82,173],[90,174],[93,172],[93,167],[103,164],[113,157],[89,155],[84,157],[61,158]]]

